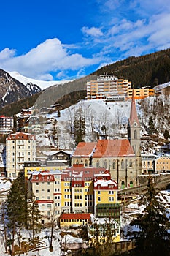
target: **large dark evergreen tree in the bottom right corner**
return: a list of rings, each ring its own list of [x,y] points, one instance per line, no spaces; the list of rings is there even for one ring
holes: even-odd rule
[[[170,255],[169,218],[160,197],[157,196],[149,177],[148,192],[145,198],[143,214],[131,222],[131,225],[139,227],[139,232],[132,232],[136,238],[136,253],[132,255]]]

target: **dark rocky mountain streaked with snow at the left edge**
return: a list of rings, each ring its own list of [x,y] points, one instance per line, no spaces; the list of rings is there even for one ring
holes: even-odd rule
[[[12,78],[9,73],[0,69],[0,108],[20,99],[30,97],[39,91],[42,90],[36,84],[29,83],[25,86],[15,78]]]

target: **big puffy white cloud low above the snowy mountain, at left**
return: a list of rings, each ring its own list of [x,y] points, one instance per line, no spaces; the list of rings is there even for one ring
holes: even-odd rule
[[[47,39],[21,56],[15,56],[15,53],[16,50],[8,48],[2,50],[0,52],[0,67],[9,71],[17,70],[22,75],[36,79],[51,80],[50,72],[66,69],[76,70],[98,63],[98,59],[70,53],[57,38]]]

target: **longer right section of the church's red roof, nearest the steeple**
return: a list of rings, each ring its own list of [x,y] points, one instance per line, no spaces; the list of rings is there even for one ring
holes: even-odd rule
[[[98,140],[93,158],[98,157],[125,157],[134,155],[133,148],[127,139]]]

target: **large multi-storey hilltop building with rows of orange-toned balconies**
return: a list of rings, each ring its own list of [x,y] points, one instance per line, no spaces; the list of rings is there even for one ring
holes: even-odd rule
[[[86,99],[125,100],[131,89],[131,82],[118,79],[115,75],[99,75],[96,80],[87,82]]]

